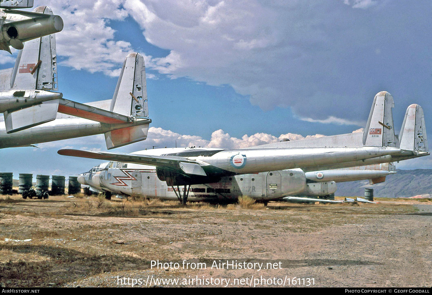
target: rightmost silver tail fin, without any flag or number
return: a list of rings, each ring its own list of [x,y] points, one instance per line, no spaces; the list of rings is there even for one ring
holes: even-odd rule
[[[407,151],[429,152],[426,136],[425,116],[418,104],[411,104],[400,129],[400,149]]]

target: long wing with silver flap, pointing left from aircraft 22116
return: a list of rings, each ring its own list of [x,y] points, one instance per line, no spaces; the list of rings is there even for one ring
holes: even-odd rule
[[[149,156],[136,154],[116,154],[105,152],[80,151],[72,149],[63,149],[57,151],[58,154],[64,156],[100,159],[108,161],[118,161],[126,163],[136,163],[150,165],[156,167],[165,167],[178,170],[181,174],[194,174],[206,176],[203,168],[196,161],[188,160],[184,157],[176,156]]]

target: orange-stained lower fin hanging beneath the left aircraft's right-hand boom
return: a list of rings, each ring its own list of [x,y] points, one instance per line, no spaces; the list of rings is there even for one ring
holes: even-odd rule
[[[149,124],[124,127],[105,133],[105,141],[108,150],[119,148],[127,144],[142,141],[147,138]]]

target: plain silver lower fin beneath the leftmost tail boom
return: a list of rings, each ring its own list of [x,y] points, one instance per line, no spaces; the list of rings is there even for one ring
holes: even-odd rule
[[[12,113],[4,112],[6,133],[18,132],[53,121],[57,116],[58,100],[44,101]]]

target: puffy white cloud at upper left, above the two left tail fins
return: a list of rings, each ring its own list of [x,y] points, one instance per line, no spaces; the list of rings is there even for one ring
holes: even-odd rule
[[[57,53],[67,59],[61,64],[73,69],[103,72],[118,76],[121,64],[133,49],[129,42],[114,40],[109,20],[124,20],[128,13],[121,9],[122,0],[48,0],[64,21],[63,31],[56,34]]]

